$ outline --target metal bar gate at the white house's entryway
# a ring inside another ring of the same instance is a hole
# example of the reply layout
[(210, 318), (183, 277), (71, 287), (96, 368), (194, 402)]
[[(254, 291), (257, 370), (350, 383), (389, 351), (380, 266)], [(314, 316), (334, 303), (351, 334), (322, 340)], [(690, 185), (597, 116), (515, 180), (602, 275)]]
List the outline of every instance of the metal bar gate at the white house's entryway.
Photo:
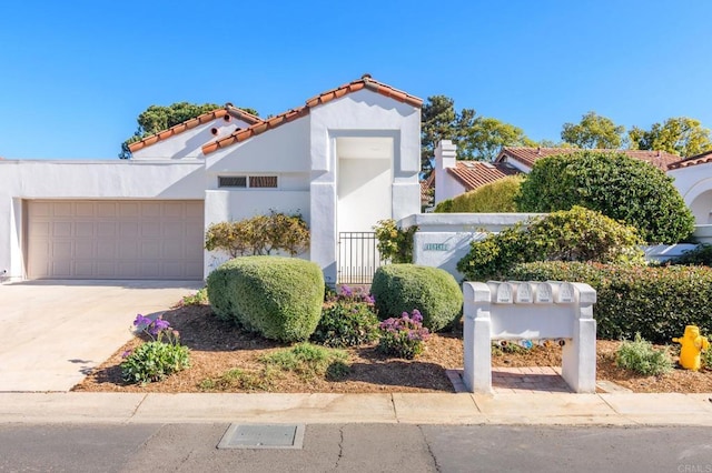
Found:
[(383, 264), (375, 232), (339, 232), (339, 284), (370, 284), (374, 273)]

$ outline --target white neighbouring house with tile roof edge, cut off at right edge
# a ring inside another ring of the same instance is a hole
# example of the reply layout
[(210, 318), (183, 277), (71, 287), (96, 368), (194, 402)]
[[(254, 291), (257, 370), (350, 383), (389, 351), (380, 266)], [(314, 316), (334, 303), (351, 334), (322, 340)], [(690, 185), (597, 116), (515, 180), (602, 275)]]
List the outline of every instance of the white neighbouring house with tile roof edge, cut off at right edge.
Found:
[(712, 151), (679, 160), (668, 169), (698, 225), (712, 224)]

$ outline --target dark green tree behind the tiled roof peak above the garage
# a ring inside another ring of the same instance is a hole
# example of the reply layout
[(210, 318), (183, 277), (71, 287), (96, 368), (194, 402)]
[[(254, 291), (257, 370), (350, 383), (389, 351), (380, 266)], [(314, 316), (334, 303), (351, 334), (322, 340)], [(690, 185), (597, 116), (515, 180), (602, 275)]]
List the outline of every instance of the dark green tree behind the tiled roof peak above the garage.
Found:
[[(175, 127), (184, 121), (194, 119), (202, 113), (221, 108), (221, 105), (217, 105), (215, 103), (196, 104), (189, 102), (176, 102), (168, 107), (150, 105), (136, 119), (138, 128), (131, 138), (121, 143), (119, 158), (129, 159), (131, 157), (131, 152), (129, 151), (129, 144), (131, 143), (140, 141), (144, 138), (156, 134), (160, 131), (168, 130), (170, 127)], [(241, 110), (254, 115), (258, 114), (254, 109), (243, 108)]]

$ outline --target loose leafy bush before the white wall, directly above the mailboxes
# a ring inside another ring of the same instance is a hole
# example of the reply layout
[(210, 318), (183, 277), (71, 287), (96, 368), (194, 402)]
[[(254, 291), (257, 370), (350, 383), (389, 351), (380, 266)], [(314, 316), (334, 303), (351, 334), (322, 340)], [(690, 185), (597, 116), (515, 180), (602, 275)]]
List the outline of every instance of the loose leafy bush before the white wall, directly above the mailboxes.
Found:
[(640, 242), (632, 227), (574, 207), (473, 241), (457, 270), (468, 281), (486, 281), (502, 279), (515, 264), (532, 261), (642, 263)]

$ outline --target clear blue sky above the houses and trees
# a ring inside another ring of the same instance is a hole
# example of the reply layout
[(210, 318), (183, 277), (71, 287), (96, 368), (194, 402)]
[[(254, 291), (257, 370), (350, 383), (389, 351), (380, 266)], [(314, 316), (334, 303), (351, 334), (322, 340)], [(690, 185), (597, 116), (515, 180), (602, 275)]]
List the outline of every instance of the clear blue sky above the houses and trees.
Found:
[(712, 128), (710, 18), (708, 0), (8, 1), (0, 157), (117, 159), (151, 104), (266, 117), (364, 72), (535, 140), (590, 110)]

